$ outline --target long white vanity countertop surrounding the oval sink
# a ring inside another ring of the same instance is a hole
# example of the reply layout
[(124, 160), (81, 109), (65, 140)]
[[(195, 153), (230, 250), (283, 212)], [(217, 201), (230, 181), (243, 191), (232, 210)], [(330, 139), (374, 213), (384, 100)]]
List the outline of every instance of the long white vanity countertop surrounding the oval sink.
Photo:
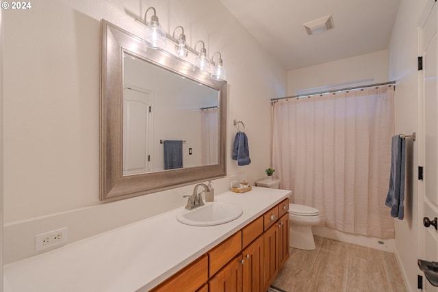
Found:
[(236, 204), (243, 214), (226, 224), (182, 224), (175, 218), (181, 207), (10, 263), (3, 269), (4, 292), (149, 291), (289, 194), (263, 187), (227, 191), (215, 201)]

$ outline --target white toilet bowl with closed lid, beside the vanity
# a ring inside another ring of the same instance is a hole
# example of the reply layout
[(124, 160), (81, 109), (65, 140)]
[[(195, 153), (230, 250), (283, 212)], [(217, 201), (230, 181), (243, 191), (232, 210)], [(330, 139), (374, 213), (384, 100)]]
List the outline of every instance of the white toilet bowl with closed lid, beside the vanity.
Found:
[(289, 204), (289, 245), (300, 250), (315, 250), (312, 226), (321, 222), (318, 209)]

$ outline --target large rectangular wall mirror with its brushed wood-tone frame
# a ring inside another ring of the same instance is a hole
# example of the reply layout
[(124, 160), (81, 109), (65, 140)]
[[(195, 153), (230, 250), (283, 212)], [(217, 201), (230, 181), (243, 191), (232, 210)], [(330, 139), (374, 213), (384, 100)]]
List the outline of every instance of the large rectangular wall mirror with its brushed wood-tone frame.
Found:
[(101, 50), (101, 200), (225, 176), (227, 82), (105, 20)]

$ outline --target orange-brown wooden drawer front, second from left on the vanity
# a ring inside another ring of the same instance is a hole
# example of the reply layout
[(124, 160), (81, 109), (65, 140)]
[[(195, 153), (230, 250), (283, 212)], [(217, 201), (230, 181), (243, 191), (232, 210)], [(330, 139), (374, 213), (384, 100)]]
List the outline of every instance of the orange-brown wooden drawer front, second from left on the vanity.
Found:
[(209, 277), (216, 274), (226, 263), (242, 250), (242, 231), (238, 231), (208, 252)]

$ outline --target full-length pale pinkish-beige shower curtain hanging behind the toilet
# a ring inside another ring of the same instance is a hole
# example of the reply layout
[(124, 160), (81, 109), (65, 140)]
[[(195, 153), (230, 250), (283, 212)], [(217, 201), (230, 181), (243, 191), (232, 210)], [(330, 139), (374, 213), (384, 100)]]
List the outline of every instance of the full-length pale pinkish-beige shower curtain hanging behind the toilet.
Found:
[(272, 165), (293, 201), (319, 209), (327, 228), (394, 238), (394, 86), (276, 101), (272, 116)]

